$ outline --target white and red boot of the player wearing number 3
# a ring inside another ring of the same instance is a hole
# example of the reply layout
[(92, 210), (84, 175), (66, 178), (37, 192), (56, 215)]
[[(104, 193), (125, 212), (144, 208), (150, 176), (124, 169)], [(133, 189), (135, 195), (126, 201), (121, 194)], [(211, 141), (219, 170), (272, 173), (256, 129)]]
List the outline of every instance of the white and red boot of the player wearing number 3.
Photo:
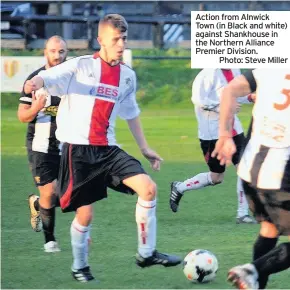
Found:
[(245, 264), (232, 268), (228, 273), (228, 281), (237, 289), (259, 289), (258, 273), (253, 264)]

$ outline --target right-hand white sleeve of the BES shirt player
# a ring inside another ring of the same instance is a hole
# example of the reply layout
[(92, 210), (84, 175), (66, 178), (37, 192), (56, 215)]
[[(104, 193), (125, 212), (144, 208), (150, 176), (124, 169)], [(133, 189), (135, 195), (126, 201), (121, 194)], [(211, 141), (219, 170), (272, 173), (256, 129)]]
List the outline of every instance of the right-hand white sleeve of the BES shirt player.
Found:
[(121, 101), (119, 117), (123, 120), (131, 120), (139, 116), (140, 109), (136, 101), (137, 80), (136, 74), (130, 79), (131, 84), (127, 90), (126, 96)]

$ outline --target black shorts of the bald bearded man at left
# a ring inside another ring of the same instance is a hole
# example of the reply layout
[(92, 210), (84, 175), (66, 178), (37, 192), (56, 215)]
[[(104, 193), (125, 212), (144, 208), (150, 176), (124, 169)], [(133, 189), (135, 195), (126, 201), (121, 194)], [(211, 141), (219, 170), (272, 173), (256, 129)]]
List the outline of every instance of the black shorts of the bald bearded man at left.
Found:
[(28, 150), (28, 161), (36, 186), (43, 186), (57, 179), (60, 155)]

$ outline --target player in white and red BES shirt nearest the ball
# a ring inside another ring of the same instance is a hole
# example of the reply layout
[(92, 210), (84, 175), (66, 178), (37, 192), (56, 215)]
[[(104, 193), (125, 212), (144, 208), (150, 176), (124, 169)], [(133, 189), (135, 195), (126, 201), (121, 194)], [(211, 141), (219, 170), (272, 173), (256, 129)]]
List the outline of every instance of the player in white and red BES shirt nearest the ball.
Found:
[(62, 97), (57, 115), (57, 138), (62, 147), (57, 192), (64, 212), (76, 211), (71, 224), (72, 275), (80, 282), (93, 280), (88, 264), (88, 237), (93, 203), (107, 197), (107, 188), (138, 194), (136, 223), (140, 267), (180, 264), (176, 256), (156, 247), (156, 184), (140, 162), (117, 146), (117, 115), (128, 126), (154, 170), (161, 157), (151, 150), (139, 120), (135, 72), (120, 61), (127, 41), (128, 24), (118, 14), (99, 22), (99, 53), (77, 57), (42, 71), (25, 84), (25, 92), (45, 87)]

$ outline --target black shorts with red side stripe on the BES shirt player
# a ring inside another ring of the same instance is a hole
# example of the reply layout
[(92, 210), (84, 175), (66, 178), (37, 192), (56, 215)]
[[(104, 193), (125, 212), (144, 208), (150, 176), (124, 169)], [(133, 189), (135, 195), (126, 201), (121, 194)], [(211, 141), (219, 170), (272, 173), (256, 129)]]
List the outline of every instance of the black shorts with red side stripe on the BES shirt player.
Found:
[(134, 194), (122, 181), (138, 174), (146, 174), (141, 163), (118, 146), (65, 143), (57, 183), (62, 211), (75, 211), (106, 198), (107, 187)]

